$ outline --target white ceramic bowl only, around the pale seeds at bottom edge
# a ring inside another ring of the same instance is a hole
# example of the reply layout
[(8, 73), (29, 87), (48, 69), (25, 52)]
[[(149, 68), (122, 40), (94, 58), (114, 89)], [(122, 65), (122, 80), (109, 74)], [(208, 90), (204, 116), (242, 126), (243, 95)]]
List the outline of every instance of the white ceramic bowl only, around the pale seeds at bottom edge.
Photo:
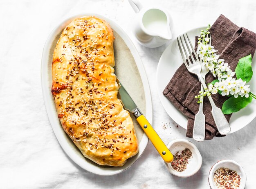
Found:
[(213, 181), (213, 176), (214, 176), (215, 171), (221, 167), (236, 171), (238, 173), (238, 175), (240, 175), (240, 178), (241, 178), (239, 189), (245, 188), (246, 174), (245, 174), (243, 167), (238, 162), (236, 162), (234, 160), (220, 160), (216, 164), (214, 164), (213, 167), (211, 167), (211, 170), (209, 173), (208, 181), (209, 181), (209, 185), (210, 185), (211, 189), (218, 189)]

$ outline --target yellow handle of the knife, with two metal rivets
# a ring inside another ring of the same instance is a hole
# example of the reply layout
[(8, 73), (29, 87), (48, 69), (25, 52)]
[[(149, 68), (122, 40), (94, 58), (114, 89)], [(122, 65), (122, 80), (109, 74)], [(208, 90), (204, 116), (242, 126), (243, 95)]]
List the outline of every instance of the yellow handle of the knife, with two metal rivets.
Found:
[(155, 149), (157, 149), (158, 153), (162, 156), (163, 160), (166, 163), (170, 163), (173, 160), (173, 154), (166, 147), (164, 142), (158, 136), (157, 132), (153, 129), (153, 127), (150, 125), (150, 123), (145, 118), (145, 116), (144, 115), (139, 116), (137, 118), (137, 122), (139, 123), (143, 131), (146, 133), (149, 140), (155, 146)]

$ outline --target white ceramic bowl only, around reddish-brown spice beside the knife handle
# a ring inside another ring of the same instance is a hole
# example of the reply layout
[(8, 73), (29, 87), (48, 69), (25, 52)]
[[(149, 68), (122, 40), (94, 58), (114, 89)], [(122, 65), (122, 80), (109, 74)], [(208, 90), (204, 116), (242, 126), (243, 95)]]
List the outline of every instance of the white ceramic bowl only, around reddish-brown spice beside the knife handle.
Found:
[(202, 165), (202, 156), (199, 150), (197, 149), (197, 147), (192, 142), (184, 139), (176, 139), (170, 142), (167, 147), (168, 149), (170, 149), (173, 156), (177, 153), (177, 151), (182, 151), (185, 148), (190, 149), (190, 151), (192, 152), (192, 156), (189, 159), (189, 163), (187, 164), (186, 169), (182, 172), (178, 172), (174, 170), (173, 167), (171, 166), (171, 163), (165, 163), (168, 171), (171, 174), (178, 177), (185, 178), (185, 177), (192, 176), (198, 172), (198, 170)]

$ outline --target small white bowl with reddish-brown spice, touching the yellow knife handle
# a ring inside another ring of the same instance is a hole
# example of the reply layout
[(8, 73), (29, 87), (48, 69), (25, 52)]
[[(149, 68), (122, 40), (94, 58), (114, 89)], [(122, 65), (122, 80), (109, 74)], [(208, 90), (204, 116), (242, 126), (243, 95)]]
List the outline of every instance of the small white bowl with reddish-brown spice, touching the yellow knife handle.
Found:
[(167, 146), (173, 154), (173, 161), (165, 163), (168, 171), (178, 177), (189, 177), (198, 172), (202, 156), (197, 147), (189, 140), (176, 139)]

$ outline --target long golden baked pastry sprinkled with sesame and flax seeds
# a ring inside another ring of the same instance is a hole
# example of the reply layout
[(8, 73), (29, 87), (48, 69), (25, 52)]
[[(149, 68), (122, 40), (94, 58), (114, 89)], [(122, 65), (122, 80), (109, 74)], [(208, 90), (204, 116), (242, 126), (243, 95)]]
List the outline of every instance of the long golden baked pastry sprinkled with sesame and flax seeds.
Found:
[(52, 95), (63, 129), (86, 158), (123, 166), (138, 152), (128, 111), (117, 98), (110, 25), (94, 16), (74, 19), (54, 49)]

